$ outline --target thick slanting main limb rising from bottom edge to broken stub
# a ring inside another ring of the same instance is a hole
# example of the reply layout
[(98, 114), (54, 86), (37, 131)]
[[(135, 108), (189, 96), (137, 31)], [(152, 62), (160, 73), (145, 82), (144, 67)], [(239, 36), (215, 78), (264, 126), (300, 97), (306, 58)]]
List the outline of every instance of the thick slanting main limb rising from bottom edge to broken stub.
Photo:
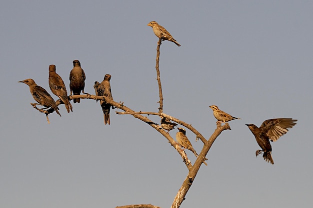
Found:
[[(205, 142), (199, 157), (204, 157), (207, 154), (207, 152), (211, 148), (213, 142), (215, 141), (215, 139), (218, 137), (218, 135), (222, 131), (230, 130), (228, 123), (225, 123), (225, 125), (223, 125), (223, 126), (221, 126), (220, 124), (217, 124), (216, 126), (217, 126), (217, 128), (215, 129), (215, 131), (213, 132), (211, 137), (208, 139), (208, 141)], [(195, 161), (195, 163), (192, 166), (191, 170), (189, 171), (187, 177), (183, 181), (180, 189), (178, 190), (178, 193), (174, 198), (174, 201), (171, 205), (171, 208), (179, 208), (180, 207), (182, 201), (185, 199), (184, 197), (186, 196), (188, 190), (190, 189), (190, 187), (192, 185), (192, 182), (193, 182), (196, 174), (198, 173), (198, 170), (201, 166), (201, 163), (202, 163), (202, 160), (200, 160), (200, 159), (197, 159)]]

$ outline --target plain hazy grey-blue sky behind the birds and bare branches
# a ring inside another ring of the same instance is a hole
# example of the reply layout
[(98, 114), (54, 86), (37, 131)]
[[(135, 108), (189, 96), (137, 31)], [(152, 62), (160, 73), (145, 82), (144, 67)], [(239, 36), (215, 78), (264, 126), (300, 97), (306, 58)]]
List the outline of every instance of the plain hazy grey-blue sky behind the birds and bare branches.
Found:
[[(104, 126), (93, 100), (73, 104), (72, 113), (60, 105), (62, 117), (53, 113), (47, 124), (17, 83), (32, 78), (50, 93), (55, 64), (69, 93), (78, 59), (85, 92), (94, 94), (94, 81), (108, 73), (115, 101), (156, 112), (157, 37), (146, 26), (155, 20), (181, 44), (160, 49), (164, 113), (207, 139), (216, 127), (209, 105), (242, 118), (217, 138), (181, 208), (310, 208), (312, 10), (301, 0), (2, 1), (0, 207), (170, 207), (187, 169), (160, 134), (115, 110)], [(298, 122), (272, 143), (270, 165), (255, 158), (259, 147), (244, 124), (280, 117)], [(200, 152), (202, 143), (186, 135)]]

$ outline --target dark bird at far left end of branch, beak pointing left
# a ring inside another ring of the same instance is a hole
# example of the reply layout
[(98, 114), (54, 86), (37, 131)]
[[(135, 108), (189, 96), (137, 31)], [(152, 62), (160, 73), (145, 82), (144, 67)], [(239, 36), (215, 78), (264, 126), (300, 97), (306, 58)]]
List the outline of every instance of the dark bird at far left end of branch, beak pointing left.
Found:
[(42, 105), (46, 108), (52, 108), (54, 111), (61, 116), (61, 114), (58, 112), (58, 107), (51, 97), (51, 95), (42, 87), (38, 86), (33, 79), (25, 79), (22, 81), (18, 81), (21, 83), (25, 83), (29, 86), (29, 91), (33, 97), (33, 99), (38, 102), (39, 105)]

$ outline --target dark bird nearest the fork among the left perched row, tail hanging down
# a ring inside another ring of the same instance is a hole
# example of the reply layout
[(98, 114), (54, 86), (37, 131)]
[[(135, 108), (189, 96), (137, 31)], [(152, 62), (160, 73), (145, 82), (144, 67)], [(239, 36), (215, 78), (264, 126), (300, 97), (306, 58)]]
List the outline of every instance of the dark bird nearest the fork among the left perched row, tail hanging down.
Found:
[[(110, 79), (111, 75), (105, 74), (103, 81), (98, 84), (97, 81), (94, 82), (93, 87), (96, 89), (95, 95), (97, 96), (106, 96), (109, 99), (113, 100), (112, 94), (111, 94), (111, 86), (110, 86)], [(110, 107), (111, 105), (106, 103), (103, 100), (100, 100), (100, 105), (103, 111), (104, 116), (104, 124), (110, 124)]]

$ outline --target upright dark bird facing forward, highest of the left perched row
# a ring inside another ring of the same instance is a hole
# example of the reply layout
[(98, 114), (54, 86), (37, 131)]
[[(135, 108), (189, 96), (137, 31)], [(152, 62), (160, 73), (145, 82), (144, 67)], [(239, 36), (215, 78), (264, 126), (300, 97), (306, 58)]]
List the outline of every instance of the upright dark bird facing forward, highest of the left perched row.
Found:
[[(85, 94), (83, 91), (85, 87), (85, 73), (80, 67), (80, 62), (78, 60), (73, 60), (73, 69), (69, 73), (69, 89), (70, 95), (73, 93), (74, 95), (80, 95), (80, 91)], [(73, 99), (74, 103), (79, 103), (80, 99)]]

